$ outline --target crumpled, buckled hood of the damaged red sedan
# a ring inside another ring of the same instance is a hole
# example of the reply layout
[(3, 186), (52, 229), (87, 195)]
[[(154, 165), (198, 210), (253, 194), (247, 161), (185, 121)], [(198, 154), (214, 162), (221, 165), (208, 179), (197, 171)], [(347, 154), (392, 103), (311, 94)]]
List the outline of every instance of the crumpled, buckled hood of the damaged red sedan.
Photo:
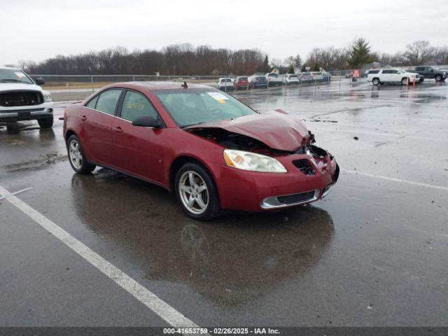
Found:
[(283, 113), (262, 113), (233, 120), (221, 120), (186, 127), (185, 130), (221, 128), (243, 134), (279, 151), (295, 152), (311, 137), (307, 127), (294, 116)]

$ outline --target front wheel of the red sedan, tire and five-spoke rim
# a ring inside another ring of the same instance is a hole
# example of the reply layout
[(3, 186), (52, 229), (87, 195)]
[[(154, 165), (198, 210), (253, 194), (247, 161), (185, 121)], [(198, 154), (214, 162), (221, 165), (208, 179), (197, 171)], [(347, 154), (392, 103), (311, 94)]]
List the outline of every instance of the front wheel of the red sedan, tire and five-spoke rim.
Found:
[(195, 162), (179, 169), (174, 181), (176, 199), (183, 211), (197, 221), (209, 221), (221, 213), (218, 190), (207, 169)]

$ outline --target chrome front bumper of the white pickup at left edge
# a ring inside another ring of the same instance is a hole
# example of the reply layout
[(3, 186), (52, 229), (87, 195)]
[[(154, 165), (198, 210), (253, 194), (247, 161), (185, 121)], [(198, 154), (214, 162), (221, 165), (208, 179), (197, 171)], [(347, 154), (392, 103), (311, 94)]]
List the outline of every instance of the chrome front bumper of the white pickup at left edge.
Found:
[(45, 119), (52, 116), (52, 113), (52, 102), (35, 106), (11, 107), (9, 109), (0, 109), (0, 122)]

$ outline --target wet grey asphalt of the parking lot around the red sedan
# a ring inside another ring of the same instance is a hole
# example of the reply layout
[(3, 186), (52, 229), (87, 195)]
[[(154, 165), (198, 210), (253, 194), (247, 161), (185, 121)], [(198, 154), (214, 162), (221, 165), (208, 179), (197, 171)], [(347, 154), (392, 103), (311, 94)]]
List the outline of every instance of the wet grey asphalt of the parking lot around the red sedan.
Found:
[[(448, 83), (235, 96), (304, 120), (342, 169), (325, 200), (193, 221), (158, 186), (73, 174), (60, 120), (0, 127), (0, 186), (197, 325), (447, 326)], [(0, 307), (8, 326), (167, 325), (7, 200)]]

